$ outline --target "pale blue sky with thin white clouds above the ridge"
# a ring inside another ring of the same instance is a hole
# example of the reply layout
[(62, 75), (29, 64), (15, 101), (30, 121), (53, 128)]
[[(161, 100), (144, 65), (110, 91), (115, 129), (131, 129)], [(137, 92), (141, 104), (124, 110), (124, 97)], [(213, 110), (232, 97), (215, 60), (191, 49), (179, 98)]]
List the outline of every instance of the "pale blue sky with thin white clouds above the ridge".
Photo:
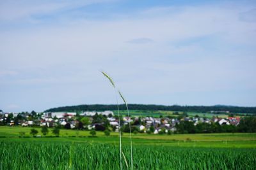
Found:
[[(0, 1), (0, 110), (256, 106), (255, 1)], [(122, 103), (120, 99), (119, 103)]]

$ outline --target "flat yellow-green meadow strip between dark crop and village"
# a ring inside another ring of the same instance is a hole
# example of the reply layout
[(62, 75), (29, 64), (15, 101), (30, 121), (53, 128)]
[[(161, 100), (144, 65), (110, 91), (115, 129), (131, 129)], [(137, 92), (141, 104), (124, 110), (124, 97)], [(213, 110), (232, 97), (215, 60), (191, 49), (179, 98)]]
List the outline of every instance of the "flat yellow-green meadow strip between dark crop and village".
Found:
[[(103, 132), (97, 132), (97, 138), (90, 138), (89, 131), (76, 131), (61, 129), (60, 137), (54, 138), (49, 129), (49, 134), (45, 138), (39, 131), (42, 138), (31, 138), (29, 134), (31, 127), (0, 127), (0, 141), (74, 141), (81, 143), (111, 143), (118, 145), (118, 133), (111, 132), (106, 137)], [(19, 132), (26, 132), (25, 137), (19, 138)], [(2, 138), (1, 138), (2, 137)], [(3, 138), (4, 137), (4, 138)], [(234, 134), (132, 134), (134, 145), (164, 145), (179, 147), (215, 147), (215, 148), (256, 148), (256, 134), (234, 133)], [(129, 134), (122, 136), (124, 144), (129, 144)]]

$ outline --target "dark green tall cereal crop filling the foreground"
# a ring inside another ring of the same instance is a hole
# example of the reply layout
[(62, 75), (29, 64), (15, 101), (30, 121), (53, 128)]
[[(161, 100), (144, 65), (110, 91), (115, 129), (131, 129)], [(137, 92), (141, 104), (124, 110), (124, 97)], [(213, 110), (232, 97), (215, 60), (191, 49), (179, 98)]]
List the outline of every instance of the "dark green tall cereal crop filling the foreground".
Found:
[[(120, 169), (116, 145), (0, 142), (0, 169)], [(122, 168), (131, 169), (129, 146)], [(123, 157), (124, 158), (124, 157)], [(134, 146), (134, 169), (255, 169), (255, 148)]]

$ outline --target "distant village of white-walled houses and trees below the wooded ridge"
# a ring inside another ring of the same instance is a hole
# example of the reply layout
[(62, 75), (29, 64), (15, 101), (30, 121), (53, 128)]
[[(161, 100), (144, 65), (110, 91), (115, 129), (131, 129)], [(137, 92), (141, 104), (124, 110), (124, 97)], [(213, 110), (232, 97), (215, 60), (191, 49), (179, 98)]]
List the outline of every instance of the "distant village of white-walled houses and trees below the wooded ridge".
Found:
[[(120, 124), (124, 132), (129, 132), (125, 127), (130, 123), (132, 126), (131, 131), (134, 133), (195, 133), (199, 128), (201, 128), (201, 132), (218, 132), (218, 127), (220, 129), (223, 126), (236, 128), (240, 123), (240, 119), (240, 117), (203, 118), (197, 115), (195, 117), (186, 117), (184, 115), (183, 117), (159, 118), (132, 116), (121, 117)], [(35, 111), (31, 113), (0, 112), (0, 125), (20, 125), (22, 127), (58, 126), (65, 129), (95, 129), (96, 131), (111, 129), (118, 132), (120, 124), (118, 115), (114, 115), (113, 111), (84, 111), (81, 114), (75, 112), (36, 113)], [(194, 127), (196, 128), (193, 130)]]

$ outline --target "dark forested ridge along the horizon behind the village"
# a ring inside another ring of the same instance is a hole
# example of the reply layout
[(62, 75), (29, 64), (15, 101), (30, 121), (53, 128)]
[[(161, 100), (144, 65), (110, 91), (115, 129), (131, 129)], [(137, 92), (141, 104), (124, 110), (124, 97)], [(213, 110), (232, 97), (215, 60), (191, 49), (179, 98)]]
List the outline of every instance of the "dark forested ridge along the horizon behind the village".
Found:
[[(105, 110), (116, 110), (116, 104), (81, 104), (77, 106), (61, 106), (58, 108), (51, 108), (45, 110), (45, 112), (79, 112), (79, 111), (105, 111)], [(125, 104), (119, 104), (120, 110), (126, 110)], [(164, 106), (156, 104), (129, 104), (129, 110), (150, 110), (150, 111), (193, 111), (200, 113), (207, 113), (210, 111), (229, 111), (230, 113), (256, 113), (256, 107), (240, 107), (240, 106)]]

